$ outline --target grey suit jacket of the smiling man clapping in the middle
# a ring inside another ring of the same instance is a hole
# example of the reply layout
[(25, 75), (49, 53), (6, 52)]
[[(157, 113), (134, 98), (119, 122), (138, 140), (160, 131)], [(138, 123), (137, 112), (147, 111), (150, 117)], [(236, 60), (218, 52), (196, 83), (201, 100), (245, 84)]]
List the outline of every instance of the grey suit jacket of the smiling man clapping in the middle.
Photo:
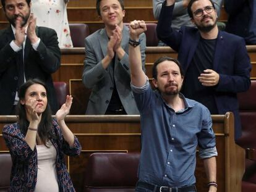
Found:
[[(142, 54), (142, 68), (145, 71), (145, 48), (146, 36), (140, 35), (140, 51)], [(85, 61), (82, 80), (83, 84), (92, 89), (88, 101), (86, 114), (103, 115), (108, 108), (109, 101), (113, 93), (114, 83), (121, 99), (122, 106), (127, 114), (139, 114), (134, 101), (134, 96), (130, 89), (130, 70), (129, 70), (129, 28), (124, 25), (122, 30), (121, 46), (126, 52), (119, 61), (116, 56), (107, 69), (104, 69), (101, 60), (107, 54), (108, 35), (106, 30), (100, 29), (92, 35), (85, 38)], [(113, 70), (114, 67), (114, 70)]]

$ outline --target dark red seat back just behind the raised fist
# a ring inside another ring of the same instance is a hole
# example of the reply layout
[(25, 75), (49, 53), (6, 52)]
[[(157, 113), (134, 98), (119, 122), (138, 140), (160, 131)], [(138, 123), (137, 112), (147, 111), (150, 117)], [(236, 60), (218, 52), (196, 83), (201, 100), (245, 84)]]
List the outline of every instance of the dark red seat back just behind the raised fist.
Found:
[[(130, 23), (124, 23), (127, 27), (129, 27)], [(156, 23), (146, 23), (147, 31), (145, 31), (145, 35), (147, 38), (146, 46), (158, 46), (158, 38), (156, 35)]]

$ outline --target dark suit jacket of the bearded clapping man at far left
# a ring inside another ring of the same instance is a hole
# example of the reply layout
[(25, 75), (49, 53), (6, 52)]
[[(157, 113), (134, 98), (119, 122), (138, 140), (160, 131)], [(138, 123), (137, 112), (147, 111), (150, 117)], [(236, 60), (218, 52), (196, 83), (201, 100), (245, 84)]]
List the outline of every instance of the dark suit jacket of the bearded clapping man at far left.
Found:
[[(36, 27), (36, 35), (40, 38), (38, 50), (32, 48), (30, 40), (25, 43), (24, 70), (26, 80), (40, 78), (48, 88), (48, 102), (53, 113), (58, 109), (58, 102), (53, 86), (51, 73), (60, 66), (61, 51), (58, 46), (56, 32), (46, 27)], [(0, 30), (0, 115), (9, 115), (14, 104), (15, 92), (19, 78), (19, 54), (10, 43), (15, 40), (11, 26)]]

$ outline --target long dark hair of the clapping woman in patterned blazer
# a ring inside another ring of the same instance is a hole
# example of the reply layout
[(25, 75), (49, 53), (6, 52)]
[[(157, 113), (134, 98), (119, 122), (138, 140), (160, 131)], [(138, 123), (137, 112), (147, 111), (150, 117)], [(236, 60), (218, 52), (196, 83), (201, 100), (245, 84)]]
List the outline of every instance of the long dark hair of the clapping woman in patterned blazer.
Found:
[[(19, 89), (20, 100), (25, 99), (25, 94), (26, 94), (27, 89), (34, 84), (40, 84), (40, 85), (44, 86), (45, 90), (46, 90), (46, 96), (47, 96), (48, 91), (47, 91), (47, 87), (46, 87), (45, 83), (43, 83), (43, 81), (41, 81), (37, 78), (34, 78), (34, 79), (30, 79), (30, 80), (26, 81), (25, 83), (23, 83), (22, 86), (20, 86), (20, 89)], [(20, 130), (25, 135), (28, 130), (29, 122), (27, 120), (25, 106), (22, 105), (20, 102), (18, 102), (18, 104), (17, 104), (17, 114), (19, 114), (18, 121), (20, 124)], [(51, 128), (52, 123), (53, 123), (53, 119), (51, 117), (51, 107), (49, 106), (49, 102), (48, 102), (46, 109), (42, 114), (41, 121), (38, 125), (38, 135), (40, 136), (40, 139), (41, 139), (41, 141), (43, 141), (43, 144), (45, 144), (45, 146), (46, 146), (46, 142), (50, 138), (55, 137), (52, 133), (52, 128)]]

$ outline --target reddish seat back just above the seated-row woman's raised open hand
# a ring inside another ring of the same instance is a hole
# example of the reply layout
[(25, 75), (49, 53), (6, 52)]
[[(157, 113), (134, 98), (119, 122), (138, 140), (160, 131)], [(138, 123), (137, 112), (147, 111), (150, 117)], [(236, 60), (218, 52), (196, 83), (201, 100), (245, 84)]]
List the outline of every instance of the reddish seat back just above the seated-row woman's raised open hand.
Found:
[(53, 82), (59, 108), (66, 102), (66, 96), (69, 94), (67, 83), (64, 81), (54, 81)]

